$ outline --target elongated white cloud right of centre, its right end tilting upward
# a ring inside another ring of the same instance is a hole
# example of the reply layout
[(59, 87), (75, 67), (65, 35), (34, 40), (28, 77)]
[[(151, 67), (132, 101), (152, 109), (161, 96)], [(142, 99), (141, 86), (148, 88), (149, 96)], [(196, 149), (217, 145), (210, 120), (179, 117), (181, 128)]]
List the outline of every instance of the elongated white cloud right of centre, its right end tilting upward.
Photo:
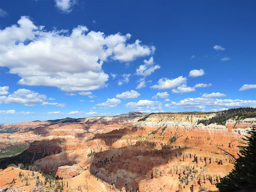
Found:
[(150, 86), (152, 89), (171, 89), (176, 86), (179, 86), (180, 84), (186, 83), (187, 78), (183, 76), (179, 76), (176, 79), (168, 79), (168, 78), (162, 78), (158, 80), (158, 84), (155, 84), (153, 86)]

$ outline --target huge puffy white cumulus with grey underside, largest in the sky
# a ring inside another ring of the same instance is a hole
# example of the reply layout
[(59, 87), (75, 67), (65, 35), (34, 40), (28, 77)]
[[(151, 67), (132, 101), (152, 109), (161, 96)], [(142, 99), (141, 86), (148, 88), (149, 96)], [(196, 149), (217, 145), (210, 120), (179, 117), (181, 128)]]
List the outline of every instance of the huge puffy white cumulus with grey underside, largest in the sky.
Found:
[(104, 61), (131, 61), (155, 50), (138, 40), (127, 43), (130, 34), (107, 36), (82, 25), (71, 33), (47, 31), (27, 16), (0, 30), (0, 36), (1, 66), (18, 74), (19, 84), (54, 86), (65, 92), (105, 87), (109, 75), (102, 70)]

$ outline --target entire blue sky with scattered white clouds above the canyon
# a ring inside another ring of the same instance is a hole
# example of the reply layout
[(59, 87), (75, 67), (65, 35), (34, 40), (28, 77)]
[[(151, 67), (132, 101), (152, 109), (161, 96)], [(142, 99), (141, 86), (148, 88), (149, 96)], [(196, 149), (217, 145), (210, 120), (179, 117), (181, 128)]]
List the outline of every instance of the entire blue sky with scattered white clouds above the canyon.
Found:
[(255, 0), (1, 0), (0, 123), (256, 107)]

